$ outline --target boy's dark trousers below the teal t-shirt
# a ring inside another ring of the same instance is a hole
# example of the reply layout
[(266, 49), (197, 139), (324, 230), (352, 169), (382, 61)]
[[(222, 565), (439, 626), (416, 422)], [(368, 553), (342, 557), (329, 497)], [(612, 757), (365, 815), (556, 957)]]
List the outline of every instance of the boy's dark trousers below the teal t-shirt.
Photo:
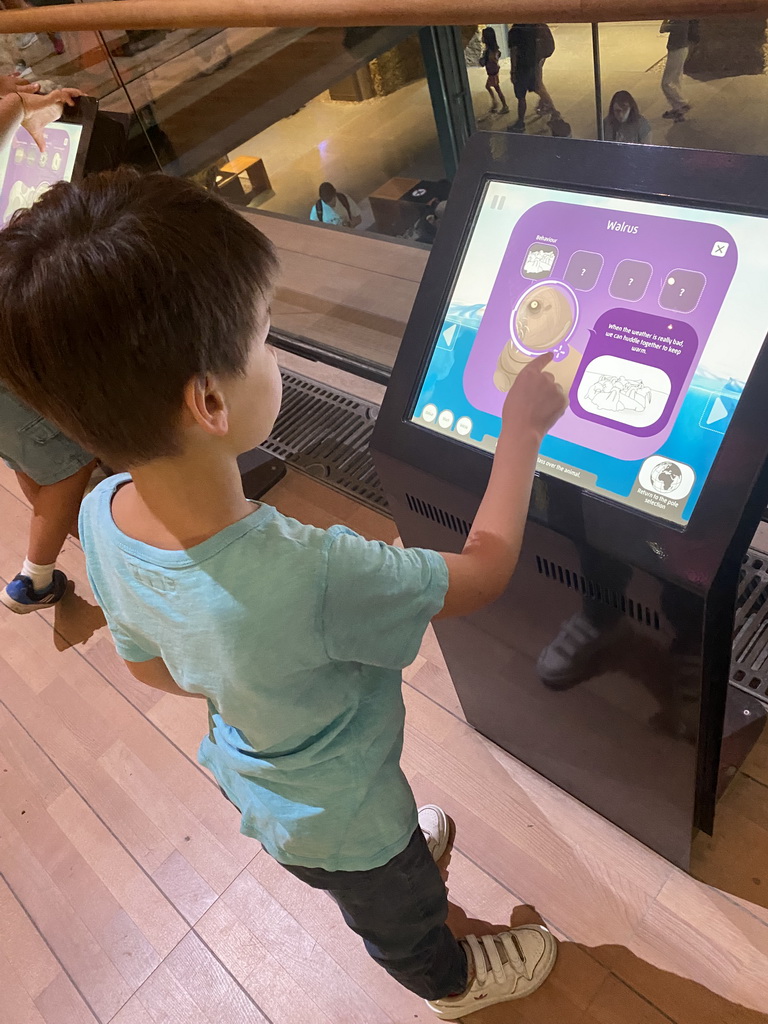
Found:
[(425, 999), (466, 989), (467, 957), (445, 924), (445, 885), (421, 829), (402, 853), (370, 871), (287, 869), (329, 892), (371, 956), (406, 988)]

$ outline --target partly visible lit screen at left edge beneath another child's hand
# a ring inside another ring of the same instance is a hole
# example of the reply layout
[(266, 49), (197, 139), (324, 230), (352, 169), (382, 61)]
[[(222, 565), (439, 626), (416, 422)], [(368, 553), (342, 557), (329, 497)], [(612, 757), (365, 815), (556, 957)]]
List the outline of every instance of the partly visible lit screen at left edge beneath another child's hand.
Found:
[(72, 179), (83, 126), (56, 121), (45, 129), (41, 153), (26, 128), (0, 148), (0, 227), (55, 181)]

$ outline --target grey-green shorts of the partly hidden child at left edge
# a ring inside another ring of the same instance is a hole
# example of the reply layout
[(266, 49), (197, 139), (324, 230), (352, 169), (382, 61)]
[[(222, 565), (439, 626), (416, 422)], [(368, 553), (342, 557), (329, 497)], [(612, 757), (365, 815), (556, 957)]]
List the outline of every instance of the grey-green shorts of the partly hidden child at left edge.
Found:
[(93, 462), (93, 456), (0, 384), (0, 458), (35, 483), (58, 483)]

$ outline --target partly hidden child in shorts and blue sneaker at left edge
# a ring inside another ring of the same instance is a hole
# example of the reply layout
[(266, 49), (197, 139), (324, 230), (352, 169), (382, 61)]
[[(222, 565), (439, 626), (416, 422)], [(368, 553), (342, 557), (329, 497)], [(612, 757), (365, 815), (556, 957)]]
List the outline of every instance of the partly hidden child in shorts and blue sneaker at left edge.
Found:
[[(77, 89), (38, 94), (38, 86), (17, 75), (0, 76), (0, 147), (22, 125), (45, 150), (43, 130), (61, 116), (65, 103), (81, 95)], [(92, 455), (71, 441), (0, 383), (0, 458), (12, 469), (32, 505), (27, 557), (17, 574), (0, 591), (0, 604), (25, 614), (57, 604), (67, 592), (67, 577), (56, 560), (70, 532), (95, 467)]]

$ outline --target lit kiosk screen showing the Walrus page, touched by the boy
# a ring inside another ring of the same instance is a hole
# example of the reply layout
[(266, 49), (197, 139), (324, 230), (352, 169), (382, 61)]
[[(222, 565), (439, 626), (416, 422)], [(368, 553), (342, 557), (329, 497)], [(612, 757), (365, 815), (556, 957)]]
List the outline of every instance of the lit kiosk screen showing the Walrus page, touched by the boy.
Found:
[(684, 524), (768, 330), (765, 221), (489, 181), (412, 412), (493, 452), (535, 355), (569, 408), (543, 473)]

